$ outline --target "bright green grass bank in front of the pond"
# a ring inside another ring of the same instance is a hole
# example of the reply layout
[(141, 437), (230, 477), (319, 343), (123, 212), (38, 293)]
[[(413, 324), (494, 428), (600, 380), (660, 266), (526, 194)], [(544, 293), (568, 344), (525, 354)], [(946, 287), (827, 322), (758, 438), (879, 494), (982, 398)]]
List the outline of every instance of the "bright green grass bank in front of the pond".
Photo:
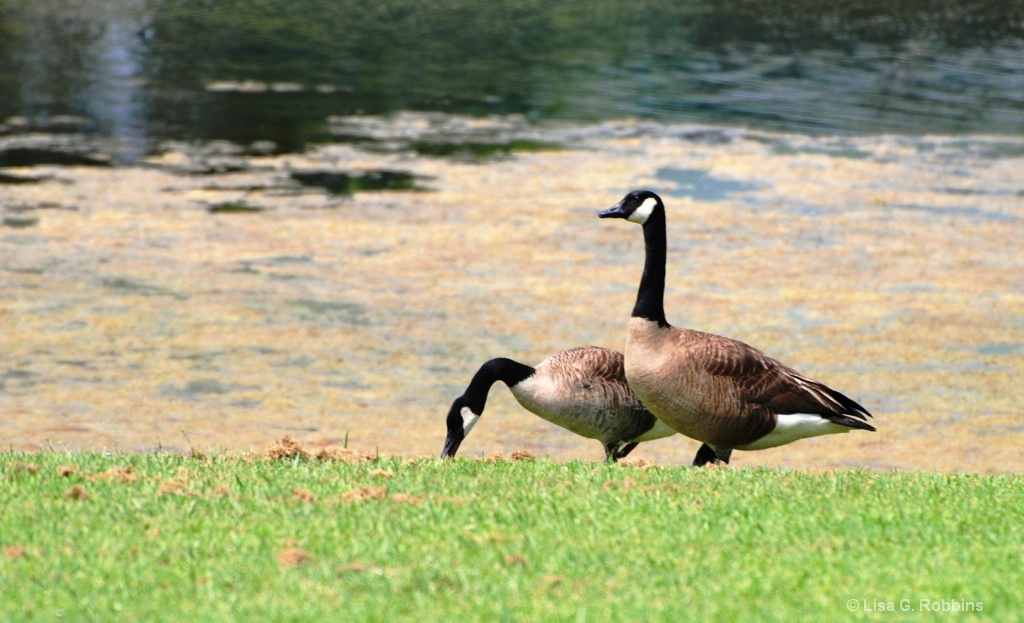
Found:
[(1019, 475), (13, 452), (0, 470), (0, 620), (893, 616), (850, 599), (1024, 618)]

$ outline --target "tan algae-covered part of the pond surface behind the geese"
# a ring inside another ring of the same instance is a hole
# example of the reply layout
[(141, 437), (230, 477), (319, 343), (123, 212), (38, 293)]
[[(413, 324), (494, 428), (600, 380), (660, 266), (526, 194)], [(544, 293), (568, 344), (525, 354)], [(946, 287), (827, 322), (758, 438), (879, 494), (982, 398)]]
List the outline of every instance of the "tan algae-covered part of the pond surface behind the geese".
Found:
[[(408, 143), (517, 126), (349, 121)], [(878, 433), (737, 466), (1024, 470), (1024, 138), (654, 122), (555, 134), (578, 147), (465, 161), (340, 142), (16, 169), (36, 181), (0, 184), (0, 434), (19, 449), (187, 451), (288, 433), (435, 456), (484, 361), (623, 347), (642, 237), (596, 213), (654, 188), (670, 320), (763, 348), (877, 418)], [(365, 179), (402, 183), (350, 190)], [(634, 456), (682, 464), (695, 446)], [(603, 456), (498, 384), (463, 453), (517, 449)]]

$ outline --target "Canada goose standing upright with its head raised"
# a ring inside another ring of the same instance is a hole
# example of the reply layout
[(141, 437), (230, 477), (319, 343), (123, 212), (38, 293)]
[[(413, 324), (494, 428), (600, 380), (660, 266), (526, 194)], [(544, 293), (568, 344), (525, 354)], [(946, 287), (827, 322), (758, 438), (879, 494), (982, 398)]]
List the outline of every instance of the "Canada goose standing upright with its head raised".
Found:
[[(643, 225), (646, 260), (626, 338), (626, 378), (644, 406), (728, 463), (733, 450), (874, 430), (866, 409), (743, 342), (665, 319), (665, 204), (634, 191), (601, 218)], [(717, 461), (716, 461), (717, 462)]]

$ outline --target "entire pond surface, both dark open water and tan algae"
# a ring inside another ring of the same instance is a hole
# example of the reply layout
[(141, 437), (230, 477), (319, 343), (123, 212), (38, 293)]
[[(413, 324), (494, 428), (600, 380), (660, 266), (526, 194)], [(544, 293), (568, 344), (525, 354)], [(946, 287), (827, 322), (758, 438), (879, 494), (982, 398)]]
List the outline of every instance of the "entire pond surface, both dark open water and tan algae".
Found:
[[(493, 357), (670, 320), (877, 434), (740, 465), (1024, 470), (1024, 3), (0, 3), (0, 439), (436, 455)], [(500, 385), (463, 453), (602, 454)], [(695, 443), (635, 456), (680, 464)]]

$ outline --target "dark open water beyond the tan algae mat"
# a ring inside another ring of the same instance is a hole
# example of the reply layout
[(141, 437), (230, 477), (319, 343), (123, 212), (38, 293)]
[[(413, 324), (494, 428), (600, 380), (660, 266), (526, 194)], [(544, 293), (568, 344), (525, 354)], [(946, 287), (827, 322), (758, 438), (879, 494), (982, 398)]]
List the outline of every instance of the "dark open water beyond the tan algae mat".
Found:
[(1019, 0), (13, 0), (0, 133), (95, 132), (129, 160), (168, 138), (298, 151), (332, 138), (332, 115), (401, 110), (1022, 134), (1022, 14)]

